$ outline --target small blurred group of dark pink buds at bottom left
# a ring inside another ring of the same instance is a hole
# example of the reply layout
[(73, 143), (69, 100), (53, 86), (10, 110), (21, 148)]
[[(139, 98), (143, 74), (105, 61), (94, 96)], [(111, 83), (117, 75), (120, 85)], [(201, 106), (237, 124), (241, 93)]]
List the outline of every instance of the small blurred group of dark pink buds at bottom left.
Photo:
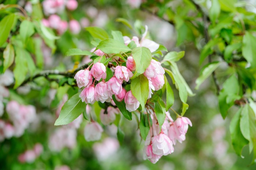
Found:
[(20, 154), (18, 157), (19, 162), (21, 163), (32, 163), (37, 157), (41, 155), (43, 151), (43, 146), (41, 143), (35, 144), (34, 148), (31, 150), (26, 150), (24, 153)]

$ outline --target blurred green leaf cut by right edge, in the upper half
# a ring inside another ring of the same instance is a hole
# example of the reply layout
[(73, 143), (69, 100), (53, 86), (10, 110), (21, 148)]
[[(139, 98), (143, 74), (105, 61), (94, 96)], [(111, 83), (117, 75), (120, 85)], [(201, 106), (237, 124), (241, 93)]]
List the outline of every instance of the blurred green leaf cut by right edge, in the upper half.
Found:
[(251, 63), (251, 67), (256, 67), (256, 38), (249, 32), (243, 38), (242, 54)]

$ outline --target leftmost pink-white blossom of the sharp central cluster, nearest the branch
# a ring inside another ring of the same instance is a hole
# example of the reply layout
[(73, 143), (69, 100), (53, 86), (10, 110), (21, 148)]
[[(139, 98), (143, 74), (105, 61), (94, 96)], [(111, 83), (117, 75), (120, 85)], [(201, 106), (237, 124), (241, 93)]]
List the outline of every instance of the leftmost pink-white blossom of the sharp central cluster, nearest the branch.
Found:
[(89, 70), (79, 70), (75, 74), (75, 80), (77, 81), (77, 86), (79, 88), (86, 87), (92, 84), (92, 74)]

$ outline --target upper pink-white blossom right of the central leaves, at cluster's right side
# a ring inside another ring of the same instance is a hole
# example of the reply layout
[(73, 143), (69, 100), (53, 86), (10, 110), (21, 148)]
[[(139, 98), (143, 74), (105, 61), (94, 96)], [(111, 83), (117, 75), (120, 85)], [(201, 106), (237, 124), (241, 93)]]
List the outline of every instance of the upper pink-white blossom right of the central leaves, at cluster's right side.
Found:
[(151, 78), (151, 77), (155, 78), (157, 75), (164, 74), (164, 73), (165, 72), (163, 67), (161, 66), (161, 63), (152, 59), (150, 65), (145, 70), (144, 75), (147, 78)]

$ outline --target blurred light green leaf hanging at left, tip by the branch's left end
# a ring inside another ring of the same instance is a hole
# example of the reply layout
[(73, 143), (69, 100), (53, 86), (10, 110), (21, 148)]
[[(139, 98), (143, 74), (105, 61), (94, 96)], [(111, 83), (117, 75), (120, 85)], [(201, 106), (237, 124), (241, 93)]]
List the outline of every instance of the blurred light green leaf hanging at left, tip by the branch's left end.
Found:
[(26, 62), (26, 58), (24, 57), (24, 49), (20, 48), (20, 47), (15, 47), (15, 67), (14, 67), (14, 78), (15, 78), (15, 85), (14, 85), (14, 89), (18, 88), (18, 86), (20, 86), (23, 81), (26, 78), (26, 74), (28, 72), (28, 68), (27, 68), (27, 62)]

